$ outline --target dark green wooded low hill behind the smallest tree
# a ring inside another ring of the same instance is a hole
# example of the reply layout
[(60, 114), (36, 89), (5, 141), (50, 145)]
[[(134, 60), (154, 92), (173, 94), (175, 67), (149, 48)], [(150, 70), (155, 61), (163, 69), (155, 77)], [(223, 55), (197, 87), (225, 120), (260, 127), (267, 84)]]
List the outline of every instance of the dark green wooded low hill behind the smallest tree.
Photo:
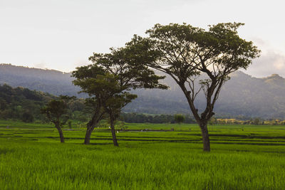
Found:
[[(28, 88), (11, 88), (9, 85), (0, 85), (0, 119), (21, 120), (24, 122), (48, 122), (41, 114), (41, 108), (47, 102), (58, 97), (48, 93), (29, 90)], [(86, 122), (88, 110), (83, 99), (70, 102), (68, 114), (72, 120)]]

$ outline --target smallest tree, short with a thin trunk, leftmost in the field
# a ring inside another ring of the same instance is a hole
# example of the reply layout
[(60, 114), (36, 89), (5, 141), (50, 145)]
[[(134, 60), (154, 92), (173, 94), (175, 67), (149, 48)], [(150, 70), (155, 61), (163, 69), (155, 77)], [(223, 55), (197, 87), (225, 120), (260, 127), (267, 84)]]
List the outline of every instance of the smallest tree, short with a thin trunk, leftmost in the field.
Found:
[(61, 127), (68, 121), (68, 101), (75, 97), (61, 96), (59, 100), (51, 100), (47, 105), (41, 108), (41, 113), (48, 117), (48, 120), (53, 122), (58, 130), (61, 142), (64, 142), (63, 132)]

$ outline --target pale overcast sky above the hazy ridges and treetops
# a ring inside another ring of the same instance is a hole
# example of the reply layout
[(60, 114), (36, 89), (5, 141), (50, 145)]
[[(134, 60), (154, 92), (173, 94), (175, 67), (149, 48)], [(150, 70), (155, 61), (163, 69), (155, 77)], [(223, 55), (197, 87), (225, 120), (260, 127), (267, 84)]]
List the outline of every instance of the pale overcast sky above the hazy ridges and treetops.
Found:
[(155, 23), (242, 22), (239, 36), (261, 49), (245, 73), (285, 77), (282, 0), (0, 0), (0, 63), (70, 72), (121, 47)]

